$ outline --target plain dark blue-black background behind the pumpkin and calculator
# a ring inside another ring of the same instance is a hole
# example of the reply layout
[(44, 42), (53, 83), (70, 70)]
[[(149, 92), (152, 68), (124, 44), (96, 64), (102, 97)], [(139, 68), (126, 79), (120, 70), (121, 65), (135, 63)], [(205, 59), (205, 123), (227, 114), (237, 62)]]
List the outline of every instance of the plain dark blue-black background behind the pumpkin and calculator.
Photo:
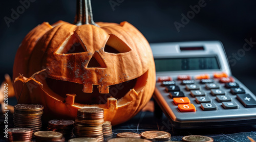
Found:
[[(25, 1), (25, 0), (22, 0)], [(28, 0), (27, 0), (28, 1)], [(11, 9), (17, 11), (19, 1), (0, 1), (0, 81), (4, 74), (12, 75), (14, 57), (19, 44), (26, 34), (38, 24), (58, 20), (73, 22), (76, 1), (34, 0), (8, 28), (4, 17), (11, 18)], [(190, 5), (199, 1), (164, 0), (123, 0), (111, 7), (110, 2), (122, 0), (92, 0), (95, 21), (129, 21), (146, 37), (148, 42), (170, 42), (190, 40), (220, 40), (224, 44), (227, 56), (243, 49), (245, 39), (256, 41), (256, 6), (253, 1), (217, 1), (205, 0), (206, 6), (178, 32), (174, 22), (181, 23), (181, 14), (190, 11)], [(256, 46), (256, 45), (255, 45)], [(256, 94), (255, 48), (245, 51), (245, 55), (236, 64), (231, 65), (232, 73)], [(231, 62), (230, 62), (231, 63)]]

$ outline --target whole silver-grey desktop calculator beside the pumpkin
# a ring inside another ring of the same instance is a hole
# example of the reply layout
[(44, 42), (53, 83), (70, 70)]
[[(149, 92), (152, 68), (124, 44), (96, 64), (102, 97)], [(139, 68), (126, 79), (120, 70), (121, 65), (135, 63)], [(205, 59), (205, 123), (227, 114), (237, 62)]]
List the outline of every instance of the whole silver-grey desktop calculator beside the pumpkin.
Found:
[(256, 124), (256, 97), (232, 76), (220, 41), (152, 43), (151, 48), (153, 97), (174, 128)]

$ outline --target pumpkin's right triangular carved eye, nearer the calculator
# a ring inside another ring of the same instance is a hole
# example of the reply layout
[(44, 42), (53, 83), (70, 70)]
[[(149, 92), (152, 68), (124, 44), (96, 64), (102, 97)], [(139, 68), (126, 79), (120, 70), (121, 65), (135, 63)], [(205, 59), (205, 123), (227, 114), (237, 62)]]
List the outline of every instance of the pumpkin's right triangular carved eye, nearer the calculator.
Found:
[(104, 47), (104, 52), (115, 53), (115, 54), (126, 53), (131, 50), (132, 49), (130, 49), (126, 43), (124, 43), (121, 39), (119, 39), (117, 36), (113, 34), (110, 35)]

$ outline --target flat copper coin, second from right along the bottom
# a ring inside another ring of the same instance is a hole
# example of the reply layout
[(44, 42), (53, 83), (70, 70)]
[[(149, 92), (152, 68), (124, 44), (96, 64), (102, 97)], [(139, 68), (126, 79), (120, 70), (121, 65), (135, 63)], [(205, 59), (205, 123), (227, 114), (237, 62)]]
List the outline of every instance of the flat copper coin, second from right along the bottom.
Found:
[(141, 137), (145, 139), (164, 141), (170, 139), (170, 133), (164, 131), (145, 131), (141, 133)]

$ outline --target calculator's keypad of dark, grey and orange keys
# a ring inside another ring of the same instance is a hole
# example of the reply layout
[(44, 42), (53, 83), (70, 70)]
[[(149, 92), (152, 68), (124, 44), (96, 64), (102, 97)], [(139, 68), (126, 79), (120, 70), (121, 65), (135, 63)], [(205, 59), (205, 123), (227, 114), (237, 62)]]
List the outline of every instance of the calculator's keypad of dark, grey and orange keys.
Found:
[(241, 106), (256, 107), (256, 100), (226, 74), (216, 74), (215, 78), (200, 80), (181, 75), (176, 80), (172, 78), (172, 81), (162, 81), (161, 86), (165, 87), (173, 105), (182, 113), (195, 112), (197, 107), (201, 111), (239, 109), (238, 101)]

